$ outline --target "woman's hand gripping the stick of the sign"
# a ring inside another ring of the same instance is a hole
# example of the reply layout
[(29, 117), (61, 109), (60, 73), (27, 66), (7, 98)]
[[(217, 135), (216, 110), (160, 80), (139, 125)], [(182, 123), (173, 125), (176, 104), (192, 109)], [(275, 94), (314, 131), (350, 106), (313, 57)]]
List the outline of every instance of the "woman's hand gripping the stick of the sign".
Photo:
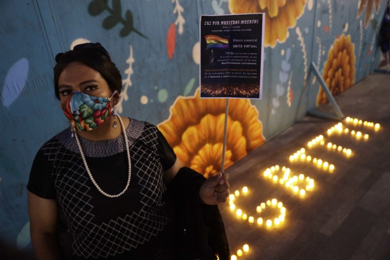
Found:
[(217, 205), (228, 200), (229, 187), (229, 174), (218, 173), (203, 183), (199, 196), (205, 204)]

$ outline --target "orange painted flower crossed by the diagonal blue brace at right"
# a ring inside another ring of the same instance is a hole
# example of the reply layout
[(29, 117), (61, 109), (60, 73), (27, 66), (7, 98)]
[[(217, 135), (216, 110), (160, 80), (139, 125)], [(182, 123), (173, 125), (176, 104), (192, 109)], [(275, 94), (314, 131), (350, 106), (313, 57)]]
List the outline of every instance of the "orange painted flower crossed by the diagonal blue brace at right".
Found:
[[(333, 43), (328, 52), (328, 60), (325, 62), (322, 78), (333, 95), (337, 95), (348, 89), (355, 81), (355, 46), (351, 43), (351, 37), (341, 35)], [(322, 88), (319, 88), (317, 105), (327, 103), (328, 99)]]

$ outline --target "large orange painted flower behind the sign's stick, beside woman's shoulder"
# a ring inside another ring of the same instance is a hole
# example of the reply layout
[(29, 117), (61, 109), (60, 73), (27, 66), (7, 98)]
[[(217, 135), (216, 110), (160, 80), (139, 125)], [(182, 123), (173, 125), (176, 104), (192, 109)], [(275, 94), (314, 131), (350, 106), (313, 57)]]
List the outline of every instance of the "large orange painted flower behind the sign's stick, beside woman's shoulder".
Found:
[[(201, 99), (199, 91), (179, 96), (158, 128), (185, 166), (209, 177), (221, 171), (225, 100)], [(257, 117), (249, 100), (229, 100), (225, 168), (265, 142)]]

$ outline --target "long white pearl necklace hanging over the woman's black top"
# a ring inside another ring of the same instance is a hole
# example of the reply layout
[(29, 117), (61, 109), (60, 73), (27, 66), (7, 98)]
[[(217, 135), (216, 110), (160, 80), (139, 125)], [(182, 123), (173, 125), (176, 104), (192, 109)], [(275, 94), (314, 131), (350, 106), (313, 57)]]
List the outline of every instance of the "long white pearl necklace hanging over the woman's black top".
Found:
[(131, 176), (132, 176), (132, 162), (131, 162), (131, 159), (130, 159), (130, 149), (128, 147), (128, 140), (127, 140), (127, 135), (126, 135), (126, 129), (124, 129), (124, 124), (123, 124), (123, 121), (122, 119), (120, 118), (120, 116), (117, 114), (116, 115), (119, 119), (119, 122), (120, 122), (120, 126), (122, 127), (122, 131), (123, 131), (123, 138), (124, 138), (124, 142), (126, 144), (126, 152), (127, 152), (127, 160), (128, 160), (128, 178), (127, 178), (127, 183), (126, 183), (126, 186), (124, 187), (124, 189), (118, 193), (118, 194), (115, 194), (115, 195), (112, 195), (112, 194), (108, 194), (106, 193), (105, 191), (103, 191), (103, 189), (98, 185), (98, 183), (96, 183), (95, 179), (93, 179), (92, 177), (92, 174), (91, 172), (89, 171), (89, 167), (87, 165), (87, 161), (85, 159), (85, 156), (84, 156), (84, 152), (83, 150), (81, 149), (81, 144), (80, 144), (80, 140), (79, 140), (79, 137), (77, 135), (77, 131), (74, 131), (74, 134), (75, 134), (75, 137), (76, 137), (76, 142), (77, 142), (77, 146), (79, 147), (79, 150), (80, 150), (80, 154), (81, 154), (81, 158), (83, 159), (83, 162), (84, 162), (84, 166), (85, 166), (85, 169), (87, 170), (87, 173), (88, 173), (88, 176), (89, 178), (91, 179), (93, 185), (95, 185), (95, 187), (100, 191), (100, 193), (102, 193), (104, 196), (108, 197), (108, 198), (117, 198), (119, 196), (121, 196), (128, 188), (129, 184), (130, 184), (130, 179), (131, 179)]

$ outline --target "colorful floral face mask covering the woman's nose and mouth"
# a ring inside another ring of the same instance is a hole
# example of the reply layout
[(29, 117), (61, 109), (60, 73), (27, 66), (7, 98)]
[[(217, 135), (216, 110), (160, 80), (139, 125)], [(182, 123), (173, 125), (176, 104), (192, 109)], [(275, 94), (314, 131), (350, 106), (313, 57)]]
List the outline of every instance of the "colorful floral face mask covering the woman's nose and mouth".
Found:
[(102, 98), (76, 91), (61, 103), (61, 108), (72, 127), (90, 131), (109, 117), (112, 110), (110, 100), (116, 92), (110, 98)]

